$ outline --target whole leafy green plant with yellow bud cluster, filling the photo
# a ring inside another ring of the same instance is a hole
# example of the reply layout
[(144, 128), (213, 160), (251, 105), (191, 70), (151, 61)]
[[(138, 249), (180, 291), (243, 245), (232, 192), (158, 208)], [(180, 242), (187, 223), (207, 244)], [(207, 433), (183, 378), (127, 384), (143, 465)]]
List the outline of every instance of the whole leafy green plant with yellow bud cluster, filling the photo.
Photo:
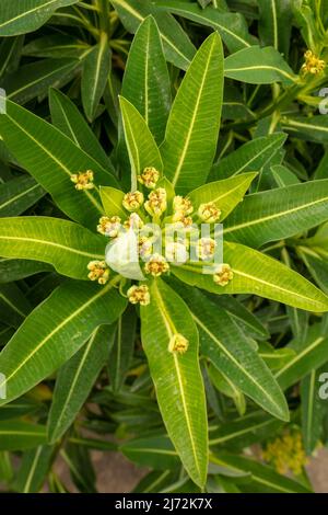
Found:
[[(300, 427), (307, 454), (326, 438), (315, 391), (328, 360), (328, 122), (314, 95), (327, 79), (321, 2), (278, 2), (277, 12), (260, 0), (238, 2), (239, 12), (229, 9), (235, 2), (115, 0), (114, 10), (106, 0), (58, 1), (56, 12), (30, 3), (37, 19), (14, 2), (0, 16), (0, 36), (13, 36), (1, 55), (52, 15), (23, 47), (50, 60), (3, 81), (0, 477), (10, 482), (8, 453), (23, 451), (11, 488), (38, 491), (48, 476), (65, 490), (49, 472), (61, 454), (78, 488), (94, 491), (86, 449), (119, 448), (154, 469), (139, 491), (309, 491), (305, 453), (296, 462), (289, 453)], [(246, 23), (255, 12), (265, 46)], [(51, 20), (74, 21), (84, 41), (73, 43), (69, 28), (61, 48)], [(129, 38), (113, 36), (126, 37), (119, 20), (136, 32), (126, 64)], [(289, 57), (293, 24), (305, 60)], [(58, 71), (55, 82), (47, 70)], [(37, 114), (19, 105), (26, 102)], [(190, 249), (163, 238), (145, 263), (152, 241), (143, 236), (139, 259), (126, 260), (133, 230), (149, 222), (163, 237), (166, 224), (188, 238), (203, 224), (209, 234)], [(223, 224), (223, 262), (204, 273), (214, 222)], [(177, 263), (175, 252), (188, 250), (200, 260)], [(243, 455), (258, 443), (278, 471)], [(294, 479), (283, 476), (279, 448)]]

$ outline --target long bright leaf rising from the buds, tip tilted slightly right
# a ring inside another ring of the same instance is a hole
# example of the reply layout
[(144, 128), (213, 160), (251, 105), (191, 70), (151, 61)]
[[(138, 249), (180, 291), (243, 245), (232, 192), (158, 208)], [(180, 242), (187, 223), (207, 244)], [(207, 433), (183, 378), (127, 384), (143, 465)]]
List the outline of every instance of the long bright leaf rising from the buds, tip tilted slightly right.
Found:
[(197, 52), (175, 98), (161, 147), (165, 175), (177, 193), (203, 184), (216, 150), (223, 95), (218, 33)]

